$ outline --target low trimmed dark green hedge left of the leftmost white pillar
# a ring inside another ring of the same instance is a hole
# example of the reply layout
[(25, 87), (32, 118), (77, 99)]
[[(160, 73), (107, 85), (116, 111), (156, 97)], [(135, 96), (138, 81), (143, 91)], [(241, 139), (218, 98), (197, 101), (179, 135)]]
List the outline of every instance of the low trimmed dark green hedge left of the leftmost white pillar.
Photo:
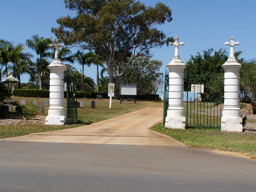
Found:
[(50, 91), (47, 89), (14, 89), (15, 97), (44, 97), (49, 98)]

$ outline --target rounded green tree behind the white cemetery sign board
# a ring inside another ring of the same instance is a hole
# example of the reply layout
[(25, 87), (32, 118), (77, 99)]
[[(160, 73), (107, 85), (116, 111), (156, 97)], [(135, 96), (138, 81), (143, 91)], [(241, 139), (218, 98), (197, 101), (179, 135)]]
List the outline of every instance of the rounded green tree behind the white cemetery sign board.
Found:
[(136, 83), (138, 93), (152, 93), (153, 81), (161, 74), (159, 73), (159, 69), (162, 65), (163, 63), (161, 61), (150, 60), (149, 57), (136, 58), (127, 67), (126, 73), (121, 77), (120, 82)]

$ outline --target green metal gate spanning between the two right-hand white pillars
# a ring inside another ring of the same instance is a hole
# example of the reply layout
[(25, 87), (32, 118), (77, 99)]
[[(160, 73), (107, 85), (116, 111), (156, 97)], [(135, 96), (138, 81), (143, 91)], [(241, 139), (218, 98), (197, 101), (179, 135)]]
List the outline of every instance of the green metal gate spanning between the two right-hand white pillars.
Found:
[[(204, 76), (204, 74), (189, 74), (187, 71), (185, 86), (186, 128), (220, 128), (224, 101), (223, 74)], [(189, 91), (192, 94), (190, 96), (188, 96)]]

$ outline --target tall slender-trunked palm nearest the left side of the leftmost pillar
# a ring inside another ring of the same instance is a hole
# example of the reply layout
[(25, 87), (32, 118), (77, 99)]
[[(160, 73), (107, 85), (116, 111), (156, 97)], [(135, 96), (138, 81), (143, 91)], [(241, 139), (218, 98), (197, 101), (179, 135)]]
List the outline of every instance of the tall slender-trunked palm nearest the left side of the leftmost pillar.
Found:
[(52, 40), (49, 38), (39, 37), (39, 35), (33, 35), (31, 39), (27, 39), (26, 46), (33, 49), (37, 55), (39, 55), (39, 60), (36, 61), (38, 66), (38, 80), (39, 80), (39, 89), (42, 89), (42, 72), (45, 64), (44, 59), (47, 57), (51, 57), (52, 53), (47, 52), (50, 49), (50, 44), (52, 44)]

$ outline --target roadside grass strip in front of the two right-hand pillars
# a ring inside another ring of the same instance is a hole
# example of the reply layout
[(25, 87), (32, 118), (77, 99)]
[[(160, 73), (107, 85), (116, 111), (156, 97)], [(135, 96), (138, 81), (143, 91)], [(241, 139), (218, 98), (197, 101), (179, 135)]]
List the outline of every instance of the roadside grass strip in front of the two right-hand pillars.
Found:
[(256, 159), (255, 133), (222, 132), (217, 128), (166, 129), (162, 123), (154, 125), (151, 130), (168, 135), (188, 146), (246, 153)]

